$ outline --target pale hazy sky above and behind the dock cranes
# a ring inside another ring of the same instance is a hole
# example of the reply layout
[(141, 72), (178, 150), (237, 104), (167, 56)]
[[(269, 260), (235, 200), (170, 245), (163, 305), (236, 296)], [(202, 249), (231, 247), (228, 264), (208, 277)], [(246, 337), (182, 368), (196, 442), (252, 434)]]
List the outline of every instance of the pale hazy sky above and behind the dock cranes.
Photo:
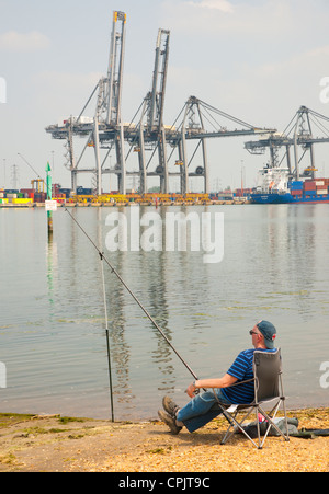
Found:
[[(63, 142), (45, 127), (79, 115), (105, 76), (114, 10), (127, 14), (125, 122), (150, 89), (159, 27), (171, 32), (166, 124), (190, 95), (280, 131), (300, 105), (329, 116), (329, 103), (320, 100), (320, 81), (329, 77), (328, 0), (0, 0), (0, 78), (7, 83), (7, 103), (0, 103), (0, 186), (3, 160), (7, 187), (13, 164), (20, 187), (34, 177), (18, 153), (41, 175), (54, 157), (56, 182), (70, 186)], [(268, 156), (249, 154), (246, 140), (208, 142), (212, 186), (216, 181), (239, 186), (241, 166), (247, 185), (254, 185)], [(329, 145), (316, 148), (320, 174), (329, 175), (328, 151)], [(90, 186), (91, 177), (79, 183)]]

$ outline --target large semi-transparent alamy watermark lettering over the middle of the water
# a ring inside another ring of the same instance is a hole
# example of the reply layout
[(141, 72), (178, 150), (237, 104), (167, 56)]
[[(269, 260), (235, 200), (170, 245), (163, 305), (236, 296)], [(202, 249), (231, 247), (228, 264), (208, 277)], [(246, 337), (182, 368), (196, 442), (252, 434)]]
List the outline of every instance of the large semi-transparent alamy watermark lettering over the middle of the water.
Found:
[(111, 252), (203, 252), (203, 263), (220, 263), (224, 257), (223, 212), (159, 212), (140, 216), (138, 206), (129, 214), (114, 211), (105, 225), (106, 249)]

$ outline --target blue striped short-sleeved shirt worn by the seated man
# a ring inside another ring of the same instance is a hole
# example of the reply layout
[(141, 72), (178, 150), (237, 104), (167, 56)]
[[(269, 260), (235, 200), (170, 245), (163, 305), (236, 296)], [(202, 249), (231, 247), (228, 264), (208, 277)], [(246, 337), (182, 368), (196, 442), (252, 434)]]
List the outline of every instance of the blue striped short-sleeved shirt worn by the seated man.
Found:
[[(227, 374), (237, 378), (237, 382), (253, 379), (253, 352), (254, 348), (241, 352), (228, 369)], [(276, 352), (276, 348), (261, 349), (261, 352)], [(232, 404), (252, 403), (254, 400), (254, 383), (251, 381), (232, 388), (224, 388), (222, 393)]]

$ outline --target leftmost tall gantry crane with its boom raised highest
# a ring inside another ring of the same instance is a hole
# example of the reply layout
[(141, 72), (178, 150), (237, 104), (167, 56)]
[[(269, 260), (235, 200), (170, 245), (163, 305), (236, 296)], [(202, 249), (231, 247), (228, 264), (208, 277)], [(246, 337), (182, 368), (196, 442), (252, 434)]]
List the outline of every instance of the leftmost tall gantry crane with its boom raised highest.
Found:
[[(115, 11), (113, 13), (113, 26), (111, 36), (110, 60), (107, 68), (107, 77), (100, 79), (87, 104), (80, 115), (75, 118), (70, 117), (64, 125), (50, 125), (46, 131), (52, 134), (54, 139), (63, 139), (66, 141), (67, 149), (67, 168), (71, 172), (71, 186), (77, 189), (78, 173), (93, 173), (97, 177), (97, 194), (102, 193), (102, 173), (105, 160), (101, 161), (100, 136), (106, 134), (111, 136), (112, 146), (115, 148), (116, 164), (115, 173), (118, 177), (121, 191), (125, 191), (126, 170), (124, 154), (124, 130), (122, 123), (122, 89), (123, 89), (123, 68), (124, 68), (124, 50), (125, 50), (125, 33), (126, 33), (126, 14)], [(97, 108), (93, 118), (83, 116), (84, 111), (90, 104), (92, 97), (98, 94)], [(73, 137), (84, 138), (86, 146), (78, 159), (75, 156)], [(82, 157), (88, 147), (94, 148), (95, 168), (79, 168)], [(110, 152), (107, 152), (106, 158)], [(105, 158), (105, 159), (106, 159)], [(110, 170), (107, 170), (109, 172)]]

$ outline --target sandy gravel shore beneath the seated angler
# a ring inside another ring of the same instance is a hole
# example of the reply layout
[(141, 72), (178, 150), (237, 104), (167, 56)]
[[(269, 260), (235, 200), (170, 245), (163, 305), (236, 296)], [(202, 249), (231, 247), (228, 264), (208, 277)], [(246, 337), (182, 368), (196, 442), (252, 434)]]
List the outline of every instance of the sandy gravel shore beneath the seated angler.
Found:
[[(299, 430), (329, 428), (329, 409), (288, 416), (298, 418)], [(0, 472), (329, 471), (329, 437), (269, 437), (258, 450), (238, 434), (220, 446), (225, 429), (223, 418), (172, 436), (161, 422), (0, 414)]]

